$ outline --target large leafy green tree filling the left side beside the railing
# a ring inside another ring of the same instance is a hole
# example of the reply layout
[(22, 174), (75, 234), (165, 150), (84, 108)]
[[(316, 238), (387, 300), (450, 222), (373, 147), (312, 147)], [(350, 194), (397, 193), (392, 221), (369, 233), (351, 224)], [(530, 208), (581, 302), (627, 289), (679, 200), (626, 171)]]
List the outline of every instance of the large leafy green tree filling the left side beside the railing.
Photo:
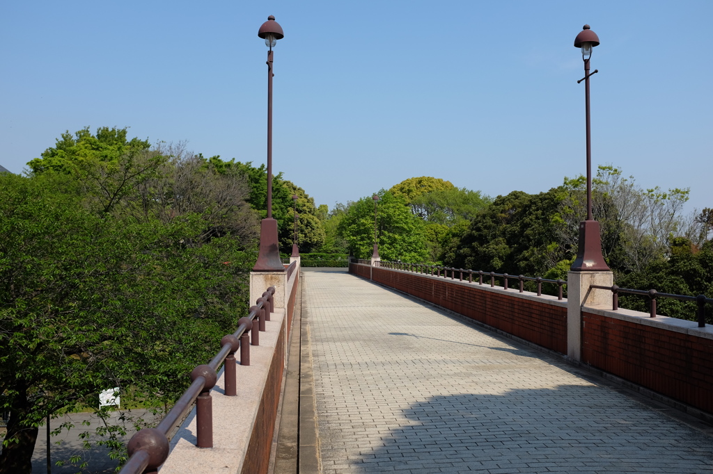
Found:
[[(243, 181), (226, 181), (202, 157), (161, 159), (124, 179), (138, 155), (83, 153), (31, 177), (0, 176), (3, 474), (29, 473), (41, 423), (96, 406), (99, 391), (131, 388), (146, 403), (172, 404), (185, 374), (247, 309), (255, 231), (238, 236), (230, 219), (253, 214), (239, 192), (225, 196)], [(168, 155), (144, 157), (156, 156)], [(111, 172), (97, 171), (110, 162)], [(92, 173), (101, 179), (88, 183)], [(105, 190), (118, 182), (107, 206)], [(118, 456), (122, 430), (106, 430)]]

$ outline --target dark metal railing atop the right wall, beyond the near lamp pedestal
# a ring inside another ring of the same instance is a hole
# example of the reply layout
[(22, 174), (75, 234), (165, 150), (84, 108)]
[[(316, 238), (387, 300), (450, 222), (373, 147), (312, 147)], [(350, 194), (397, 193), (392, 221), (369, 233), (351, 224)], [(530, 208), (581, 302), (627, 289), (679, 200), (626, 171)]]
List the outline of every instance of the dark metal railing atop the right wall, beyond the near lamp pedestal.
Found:
[[(423, 273), (426, 275), (437, 276), (448, 278), (448, 272), (450, 272), (451, 280), (456, 280), (456, 273), (458, 273), (458, 281), (463, 281), (463, 274), (467, 274), (467, 280), (473, 283), (473, 275), (477, 275), (478, 285), (483, 285), (483, 277), (490, 278), (491, 287), (495, 286), (495, 280), (503, 280), (503, 290), (510, 290), (508, 287), (508, 280), (518, 280), (518, 290), (519, 293), (524, 292), (525, 281), (534, 281), (537, 283), (537, 295), (542, 296), (542, 284), (543, 283), (553, 283), (557, 285), (557, 299), (562, 300), (562, 287), (566, 285), (565, 280), (550, 280), (548, 278), (542, 277), (526, 277), (524, 275), (508, 275), (508, 273), (495, 273), (495, 272), (484, 272), (483, 270), (465, 270), (463, 268), (452, 268), (452, 267), (441, 267), (438, 265), (426, 265), (424, 263), (405, 263), (405, 262), (390, 262), (386, 260), (381, 260), (376, 264), (381, 268), (391, 268), (392, 270), (406, 270), (414, 273)], [(443, 273), (441, 275), (441, 272)]]

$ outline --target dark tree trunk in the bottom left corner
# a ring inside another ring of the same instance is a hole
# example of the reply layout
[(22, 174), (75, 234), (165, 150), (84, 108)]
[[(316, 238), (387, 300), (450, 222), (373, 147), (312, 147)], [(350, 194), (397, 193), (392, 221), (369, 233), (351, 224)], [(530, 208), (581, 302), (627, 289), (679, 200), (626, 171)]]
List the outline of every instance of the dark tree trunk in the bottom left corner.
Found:
[(6, 440), (13, 439), (3, 446), (0, 453), (0, 474), (31, 474), (32, 452), (37, 441), (37, 426), (24, 426), (31, 403), (27, 399), (25, 387), (19, 388), (14, 404), (10, 410), (7, 423)]

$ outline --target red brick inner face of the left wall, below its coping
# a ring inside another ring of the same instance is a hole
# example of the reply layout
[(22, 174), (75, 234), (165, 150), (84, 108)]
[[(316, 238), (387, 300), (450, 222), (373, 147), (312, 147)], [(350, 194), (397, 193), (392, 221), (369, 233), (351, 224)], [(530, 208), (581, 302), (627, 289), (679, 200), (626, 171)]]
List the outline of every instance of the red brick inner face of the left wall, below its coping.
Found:
[[(272, 354), (270, 372), (267, 374), (265, 389), (262, 391), (260, 408), (257, 409), (257, 418), (250, 434), (250, 443), (245, 453), (245, 463), (242, 465), (242, 474), (265, 474), (270, 464), (270, 449), (272, 448), (272, 434), (275, 431), (275, 418), (277, 418), (277, 404), (279, 391), (282, 386), (282, 371), (284, 369), (284, 337), (287, 329), (284, 327), (287, 318), (282, 320), (282, 329), (277, 338), (275, 352)], [(240, 371), (240, 367), (238, 367)], [(240, 372), (238, 372), (240, 376)]]

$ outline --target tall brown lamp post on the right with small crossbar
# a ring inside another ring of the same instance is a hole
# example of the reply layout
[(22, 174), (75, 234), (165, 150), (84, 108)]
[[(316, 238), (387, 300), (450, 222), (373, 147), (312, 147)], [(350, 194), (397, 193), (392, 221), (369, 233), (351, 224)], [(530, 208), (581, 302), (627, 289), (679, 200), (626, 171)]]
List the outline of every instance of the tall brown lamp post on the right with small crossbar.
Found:
[(585, 81), (585, 113), (587, 122), (587, 220), (580, 222), (579, 248), (577, 258), (570, 270), (573, 271), (602, 271), (609, 270), (607, 263), (602, 256), (602, 243), (599, 234), (599, 223), (592, 216), (592, 142), (590, 127), (590, 107), (589, 107), (589, 78), (599, 72), (595, 69), (590, 74), (589, 61), (592, 57), (592, 50), (599, 45), (597, 33), (590, 30), (589, 25), (585, 25), (582, 31), (575, 38), (575, 48), (582, 49), (582, 59), (584, 60), (584, 78), (577, 81)]

